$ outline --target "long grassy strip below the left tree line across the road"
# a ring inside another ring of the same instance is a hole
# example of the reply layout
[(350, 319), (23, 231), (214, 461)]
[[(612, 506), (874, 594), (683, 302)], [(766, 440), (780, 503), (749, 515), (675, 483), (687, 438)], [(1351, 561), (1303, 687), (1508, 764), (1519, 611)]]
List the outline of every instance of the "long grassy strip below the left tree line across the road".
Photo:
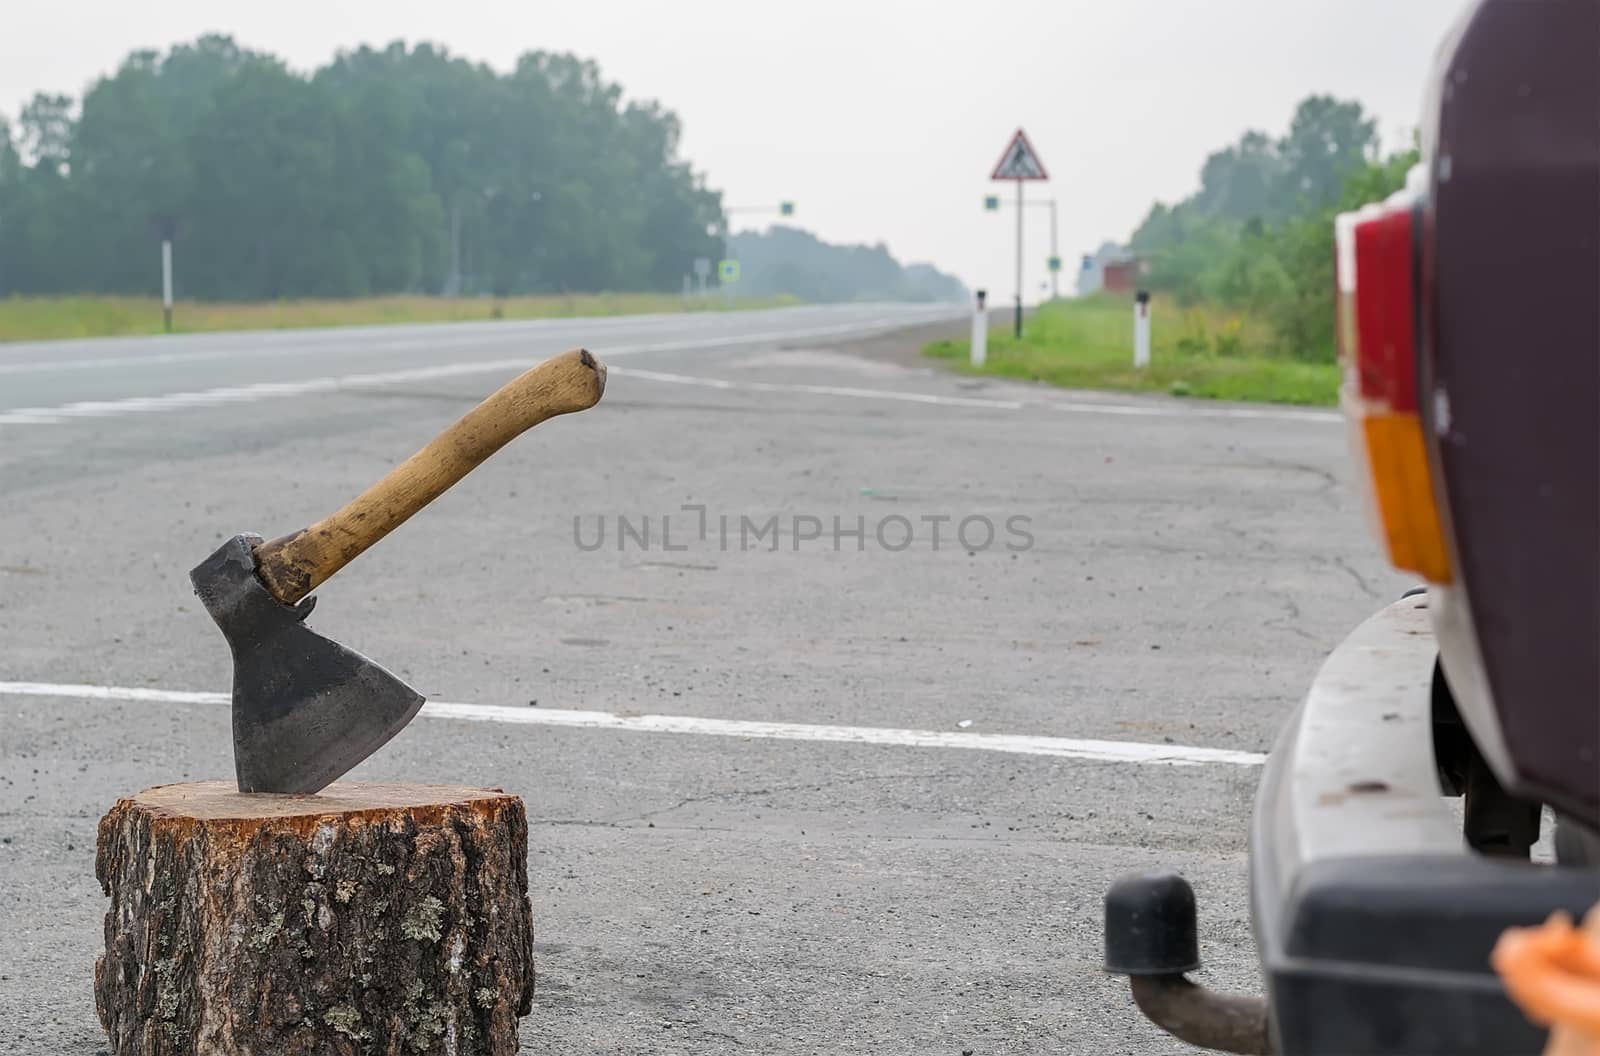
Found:
[[(266, 301), (213, 304), (182, 301), (173, 330), (298, 330), (382, 323), (453, 323), (486, 318), (563, 318), (571, 315), (638, 315), (728, 307), (776, 307), (792, 299), (683, 299), (666, 293), (584, 293), (539, 298), (363, 298), (355, 301)], [(112, 338), (162, 333), (155, 298), (0, 298), (0, 341)]]

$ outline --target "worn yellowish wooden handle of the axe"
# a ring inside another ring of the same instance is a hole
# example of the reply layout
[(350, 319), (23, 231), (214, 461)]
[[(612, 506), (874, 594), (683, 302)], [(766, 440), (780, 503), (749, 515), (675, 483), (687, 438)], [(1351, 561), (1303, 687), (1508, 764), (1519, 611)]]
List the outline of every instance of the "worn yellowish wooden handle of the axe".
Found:
[(256, 574), (294, 605), (453, 483), (547, 418), (584, 411), (605, 392), (605, 363), (584, 349), (549, 358), (466, 413), (331, 517), (256, 547)]

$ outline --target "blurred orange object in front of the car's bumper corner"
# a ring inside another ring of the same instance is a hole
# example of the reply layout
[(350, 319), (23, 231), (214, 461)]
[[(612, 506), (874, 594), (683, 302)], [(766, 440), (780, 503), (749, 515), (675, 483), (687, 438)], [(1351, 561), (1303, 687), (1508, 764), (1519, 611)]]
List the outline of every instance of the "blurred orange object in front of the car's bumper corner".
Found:
[(1490, 963), (1523, 1014), (1550, 1027), (1544, 1056), (1600, 1056), (1600, 906), (1581, 930), (1563, 912), (1507, 928)]

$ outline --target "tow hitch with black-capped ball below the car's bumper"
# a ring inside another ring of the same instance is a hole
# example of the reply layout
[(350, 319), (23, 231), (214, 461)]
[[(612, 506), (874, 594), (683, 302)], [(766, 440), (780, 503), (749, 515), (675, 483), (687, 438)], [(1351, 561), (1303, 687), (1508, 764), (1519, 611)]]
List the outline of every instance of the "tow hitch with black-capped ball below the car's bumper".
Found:
[(1267, 1002), (1184, 978), (1200, 968), (1195, 893), (1176, 872), (1123, 877), (1106, 893), (1106, 971), (1128, 976), (1144, 1018), (1174, 1038), (1222, 1053), (1272, 1056)]

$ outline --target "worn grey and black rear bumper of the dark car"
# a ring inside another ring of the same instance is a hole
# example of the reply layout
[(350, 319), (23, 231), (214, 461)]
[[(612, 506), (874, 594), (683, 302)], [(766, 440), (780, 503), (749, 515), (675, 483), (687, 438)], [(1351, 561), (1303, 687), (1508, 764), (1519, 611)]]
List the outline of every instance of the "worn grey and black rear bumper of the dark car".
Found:
[(1594, 869), (1482, 858), (1440, 794), (1426, 597), (1326, 659), (1262, 774), (1250, 885), (1283, 1056), (1538, 1053), (1488, 955), (1501, 931), (1582, 914)]

